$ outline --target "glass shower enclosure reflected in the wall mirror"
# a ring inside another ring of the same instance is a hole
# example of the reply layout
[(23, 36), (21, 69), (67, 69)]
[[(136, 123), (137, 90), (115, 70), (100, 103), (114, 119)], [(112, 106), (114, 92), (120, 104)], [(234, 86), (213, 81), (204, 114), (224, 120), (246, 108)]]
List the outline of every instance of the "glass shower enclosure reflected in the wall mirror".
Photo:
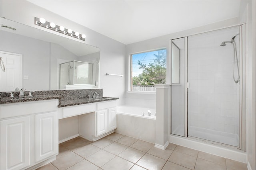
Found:
[(60, 89), (66, 85), (93, 84), (93, 64), (69, 61), (60, 64)]

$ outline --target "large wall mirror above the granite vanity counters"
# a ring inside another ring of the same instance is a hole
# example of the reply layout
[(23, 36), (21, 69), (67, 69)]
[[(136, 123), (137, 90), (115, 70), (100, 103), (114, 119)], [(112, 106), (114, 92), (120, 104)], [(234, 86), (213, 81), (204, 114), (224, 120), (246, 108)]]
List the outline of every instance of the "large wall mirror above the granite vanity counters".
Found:
[[(0, 70), (1, 92), (14, 91), (17, 87), (26, 90), (99, 88), (100, 49), (82, 40), (0, 18), (0, 55), (6, 68), (5, 72)], [(79, 76), (76, 79), (85, 84), (70, 83), (72, 76), (66, 82), (61, 80), (62, 63), (74, 61), (88, 64), (69, 64), (62, 74), (68, 76), (75, 69), (74, 75)], [(90, 81), (81, 81), (88, 78)]]

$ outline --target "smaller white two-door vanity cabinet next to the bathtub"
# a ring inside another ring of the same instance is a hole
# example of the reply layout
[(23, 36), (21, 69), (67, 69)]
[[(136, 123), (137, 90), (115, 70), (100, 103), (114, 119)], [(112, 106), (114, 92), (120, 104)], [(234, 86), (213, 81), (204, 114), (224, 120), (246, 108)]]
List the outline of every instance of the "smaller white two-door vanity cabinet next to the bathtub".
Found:
[(95, 113), (79, 115), (79, 135), (96, 141), (116, 129), (116, 100), (96, 103)]

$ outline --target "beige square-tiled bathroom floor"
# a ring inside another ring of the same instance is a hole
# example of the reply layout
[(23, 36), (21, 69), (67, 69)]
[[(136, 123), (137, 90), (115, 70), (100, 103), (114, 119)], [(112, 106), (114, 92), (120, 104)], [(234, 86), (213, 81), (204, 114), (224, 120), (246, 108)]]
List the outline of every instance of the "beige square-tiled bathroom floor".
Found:
[(96, 142), (77, 137), (61, 143), (53, 162), (38, 170), (247, 170), (246, 164), (170, 143), (152, 143), (112, 133)]

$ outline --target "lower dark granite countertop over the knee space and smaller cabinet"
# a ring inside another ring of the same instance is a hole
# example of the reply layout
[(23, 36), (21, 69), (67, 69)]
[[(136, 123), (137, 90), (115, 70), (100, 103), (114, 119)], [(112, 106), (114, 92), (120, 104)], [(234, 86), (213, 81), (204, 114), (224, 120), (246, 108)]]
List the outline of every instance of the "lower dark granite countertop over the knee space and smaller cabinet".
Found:
[(70, 100), (59, 100), (58, 107), (66, 107), (66, 106), (75, 106), (80, 104), (89, 104), (89, 103), (95, 103), (95, 102), (104, 102), (109, 100), (117, 100), (119, 98), (116, 97), (102, 97), (102, 98), (91, 98), (89, 100), (88, 98), (82, 98), (82, 99), (70, 99)]

